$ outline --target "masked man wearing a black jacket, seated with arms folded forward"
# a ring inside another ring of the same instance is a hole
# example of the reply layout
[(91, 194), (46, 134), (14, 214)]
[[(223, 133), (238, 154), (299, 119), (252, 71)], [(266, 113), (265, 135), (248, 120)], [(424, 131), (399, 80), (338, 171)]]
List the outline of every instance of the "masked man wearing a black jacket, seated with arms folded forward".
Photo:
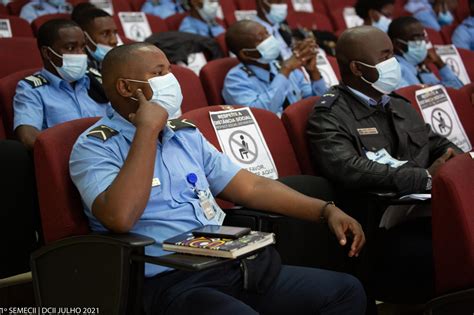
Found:
[[(337, 43), (336, 56), (343, 83), (321, 97), (308, 122), (318, 172), (341, 187), (345, 198), (374, 190), (400, 195), (429, 191), (439, 167), (461, 151), (433, 133), (406, 99), (392, 93), (400, 66), (389, 37), (371, 26), (349, 29)], [(359, 220), (367, 215), (352, 210)], [(416, 210), (390, 229), (377, 230), (377, 241), (383, 242), (377, 264), (392, 271), (383, 279), (392, 288), (429, 291), (430, 212)]]

